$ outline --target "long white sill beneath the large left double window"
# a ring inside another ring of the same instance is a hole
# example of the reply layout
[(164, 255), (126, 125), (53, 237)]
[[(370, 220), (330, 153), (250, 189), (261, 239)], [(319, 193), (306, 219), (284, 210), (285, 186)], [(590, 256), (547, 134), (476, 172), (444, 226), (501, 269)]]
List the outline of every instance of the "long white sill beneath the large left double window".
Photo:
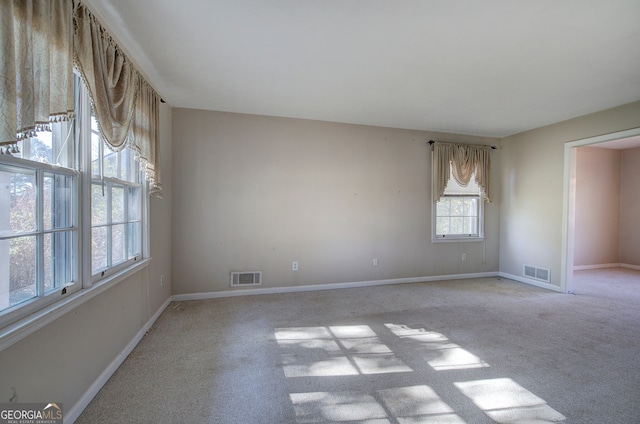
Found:
[(60, 318), (67, 312), (72, 311), (88, 300), (93, 299), (100, 293), (105, 292), (127, 277), (133, 275), (146, 268), (151, 262), (151, 258), (143, 259), (142, 261), (134, 264), (133, 266), (124, 269), (93, 286), (80, 289), (70, 294), (67, 298), (48, 305), (33, 314), (24, 317), (12, 324), (7, 325), (0, 329), (0, 352), (9, 346), (19, 342), (25, 337), (33, 334), (39, 329), (43, 328), (47, 324)]

